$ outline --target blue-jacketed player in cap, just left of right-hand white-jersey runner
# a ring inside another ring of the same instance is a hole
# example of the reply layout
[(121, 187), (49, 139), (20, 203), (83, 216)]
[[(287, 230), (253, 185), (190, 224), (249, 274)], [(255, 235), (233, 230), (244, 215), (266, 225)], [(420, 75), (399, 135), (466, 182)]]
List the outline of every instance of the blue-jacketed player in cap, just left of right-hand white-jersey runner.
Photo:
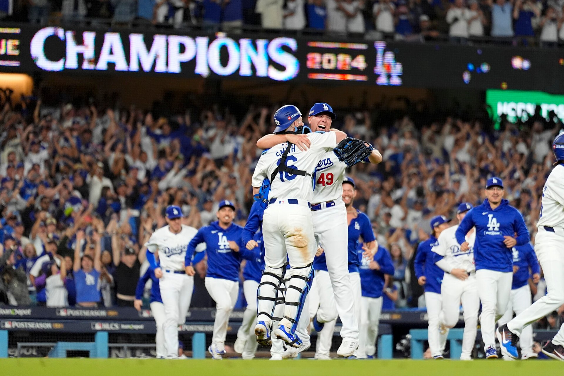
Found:
[(431, 236), (419, 244), (417, 254), (415, 255), (415, 262), (413, 263), (418, 284), (425, 286), (425, 306), (427, 307), (429, 319), (428, 339), (431, 355), (434, 359), (443, 359), (448, 332), (439, 332), (439, 315), (443, 309), (443, 300), (440, 297), (440, 284), (443, 280), (444, 271), (435, 265), (434, 254), (431, 249), (437, 243), (440, 233), (449, 227), (449, 222), (451, 220), (444, 215), (438, 215), (431, 219)]

